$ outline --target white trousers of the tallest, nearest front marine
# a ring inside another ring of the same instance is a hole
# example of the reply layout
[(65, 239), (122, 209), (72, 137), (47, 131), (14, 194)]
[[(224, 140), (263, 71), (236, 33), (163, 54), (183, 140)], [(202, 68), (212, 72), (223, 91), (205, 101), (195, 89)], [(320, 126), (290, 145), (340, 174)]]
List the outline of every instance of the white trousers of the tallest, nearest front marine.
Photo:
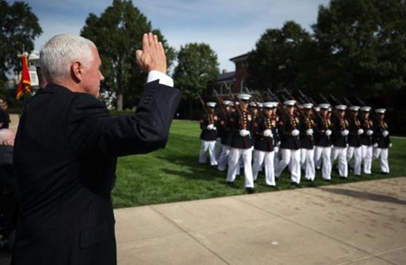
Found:
[(246, 188), (254, 188), (253, 171), (251, 167), (253, 149), (239, 149), (231, 147), (229, 158), (229, 169), (227, 171), (227, 181), (234, 182), (237, 169), (240, 168), (240, 157), (244, 161), (244, 177)]

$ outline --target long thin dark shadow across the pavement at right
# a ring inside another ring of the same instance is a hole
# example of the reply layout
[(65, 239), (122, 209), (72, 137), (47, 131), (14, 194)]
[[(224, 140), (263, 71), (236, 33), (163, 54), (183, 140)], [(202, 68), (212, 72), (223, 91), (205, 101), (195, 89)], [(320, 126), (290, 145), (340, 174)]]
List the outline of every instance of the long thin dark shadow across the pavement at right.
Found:
[(320, 189), (323, 191), (326, 191), (326, 192), (350, 196), (350, 197), (354, 197), (354, 198), (358, 198), (358, 199), (406, 205), (406, 201), (404, 201), (404, 200), (400, 200), (400, 199), (386, 196), (386, 195), (366, 192), (366, 191), (347, 190), (347, 189), (343, 189), (343, 188), (320, 188)]

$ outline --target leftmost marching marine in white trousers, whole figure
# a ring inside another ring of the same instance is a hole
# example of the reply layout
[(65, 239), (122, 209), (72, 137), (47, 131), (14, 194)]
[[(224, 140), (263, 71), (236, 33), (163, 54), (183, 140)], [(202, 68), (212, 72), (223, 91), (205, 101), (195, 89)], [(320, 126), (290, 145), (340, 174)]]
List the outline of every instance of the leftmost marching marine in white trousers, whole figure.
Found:
[(207, 114), (200, 120), (200, 128), (202, 129), (202, 132), (200, 134), (201, 147), (199, 152), (199, 163), (206, 163), (206, 153), (208, 151), (211, 166), (217, 166), (216, 139), (219, 119), (215, 113), (215, 107), (215, 102), (207, 102)]

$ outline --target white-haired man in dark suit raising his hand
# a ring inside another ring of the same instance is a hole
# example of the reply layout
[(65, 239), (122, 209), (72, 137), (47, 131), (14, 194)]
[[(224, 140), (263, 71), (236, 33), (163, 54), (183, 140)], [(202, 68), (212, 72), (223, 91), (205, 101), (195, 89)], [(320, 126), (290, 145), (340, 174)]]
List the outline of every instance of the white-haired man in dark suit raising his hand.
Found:
[(12, 264), (117, 263), (117, 157), (164, 148), (181, 96), (157, 36), (144, 34), (136, 59), (149, 72), (145, 92), (133, 115), (112, 117), (97, 99), (104, 77), (91, 41), (58, 35), (41, 50), (48, 85), (26, 106), (15, 140), (21, 213)]

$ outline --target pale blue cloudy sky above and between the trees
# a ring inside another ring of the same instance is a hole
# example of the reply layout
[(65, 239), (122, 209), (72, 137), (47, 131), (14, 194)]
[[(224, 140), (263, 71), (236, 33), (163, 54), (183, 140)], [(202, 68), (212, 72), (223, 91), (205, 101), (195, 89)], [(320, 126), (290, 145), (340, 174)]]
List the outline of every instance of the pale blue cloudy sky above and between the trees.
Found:
[[(39, 18), (43, 34), (35, 49), (56, 34), (76, 33), (89, 13), (100, 15), (112, 0), (26, 0)], [(14, 1), (11, 1), (14, 2)], [(179, 50), (192, 42), (208, 43), (220, 69), (234, 71), (230, 58), (251, 51), (267, 28), (294, 20), (308, 31), (317, 20), (320, 4), (329, 0), (133, 0), (153, 28)]]

